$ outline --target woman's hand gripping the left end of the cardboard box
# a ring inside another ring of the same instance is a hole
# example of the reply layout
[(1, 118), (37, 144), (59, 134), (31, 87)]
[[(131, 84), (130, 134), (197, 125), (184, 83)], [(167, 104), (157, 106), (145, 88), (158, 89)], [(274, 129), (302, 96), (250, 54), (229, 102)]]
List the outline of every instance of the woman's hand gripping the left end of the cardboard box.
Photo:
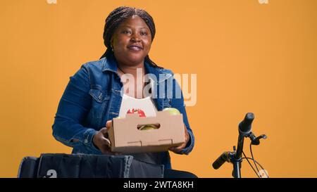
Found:
[(108, 139), (108, 130), (111, 127), (111, 120), (108, 120), (106, 122), (106, 127), (100, 129), (97, 134), (94, 134), (94, 138), (92, 139), (92, 142), (94, 143), (97, 148), (101, 151), (101, 153), (104, 153), (106, 155), (115, 155), (116, 153), (111, 152), (111, 142)]

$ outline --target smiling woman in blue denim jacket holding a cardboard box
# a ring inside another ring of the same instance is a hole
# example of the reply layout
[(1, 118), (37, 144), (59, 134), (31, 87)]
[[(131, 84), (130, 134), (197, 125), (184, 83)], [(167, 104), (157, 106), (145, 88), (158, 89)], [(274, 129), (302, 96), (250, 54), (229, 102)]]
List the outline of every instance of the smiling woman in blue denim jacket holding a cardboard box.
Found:
[[(100, 60), (85, 63), (70, 77), (52, 126), (56, 140), (73, 147), (73, 153), (113, 154), (107, 132), (111, 120), (119, 115), (122, 95), (144, 98), (143, 89), (147, 85), (137, 83), (139, 79), (143, 82), (144, 75), (151, 74), (159, 79), (156, 84), (152, 84), (158, 86), (151, 87), (151, 91), (157, 91), (159, 95), (153, 98), (157, 110), (172, 107), (183, 115), (185, 143), (170, 148), (170, 151), (186, 155), (192, 151), (194, 135), (187, 120), (183, 96), (166, 96), (175, 95), (180, 87), (173, 79), (173, 72), (159, 67), (149, 58), (154, 35), (154, 20), (142, 9), (122, 6), (108, 15), (104, 27), (106, 52)], [(142, 75), (137, 75), (140, 69)], [(137, 80), (123, 84), (120, 77), (127, 74)], [(160, 94), (159, 85), (171, 79), (176, 86), (167, 94)], [(130, 91), (129, 87), (136, 89)], [(165, 165), (164, 177), (196, 177), (189, 172), (171, 169), (168, 151), (134, 156), (139, 160)]]

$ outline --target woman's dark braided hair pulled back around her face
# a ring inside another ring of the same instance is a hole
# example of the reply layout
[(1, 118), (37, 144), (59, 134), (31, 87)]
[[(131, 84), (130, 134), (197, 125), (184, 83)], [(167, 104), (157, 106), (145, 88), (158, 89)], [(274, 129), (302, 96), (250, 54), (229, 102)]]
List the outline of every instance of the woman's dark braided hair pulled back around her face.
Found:
[[(114, 56), (114, 53), (111, 49), (111, 37), (116, 31), (116, 28), (128, 18), (131, 18), (132, 15), (139, 16), (144, 20), (145, 23), (147, 23), (147, 26), (151, 31), (151, 40), (153, 41), (155, 36), (155, 24), (151, 15), (149, 15), (149, 13), (147, 13), (147, 11), (144, 11), (143, 9), (120, 6), (111, 11), (111, 13), (106, 18), (106, 24), (104, 25), (104, 45), (107, 49), (104, 55), (101, 56), (101, 58)], [(161, 68), (149, 58), (149, 55), (144, 58), (144, 61), (155, 68)]]

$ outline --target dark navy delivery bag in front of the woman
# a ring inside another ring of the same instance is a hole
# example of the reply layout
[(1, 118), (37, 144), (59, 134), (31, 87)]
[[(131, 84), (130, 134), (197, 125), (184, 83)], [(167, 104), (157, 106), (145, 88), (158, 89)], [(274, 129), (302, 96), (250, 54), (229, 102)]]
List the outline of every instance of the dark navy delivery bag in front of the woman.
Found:
[(132, 155), (42, 154), (25, 157), (18, 178), (162, 178), (164, 165), (133, 159)]

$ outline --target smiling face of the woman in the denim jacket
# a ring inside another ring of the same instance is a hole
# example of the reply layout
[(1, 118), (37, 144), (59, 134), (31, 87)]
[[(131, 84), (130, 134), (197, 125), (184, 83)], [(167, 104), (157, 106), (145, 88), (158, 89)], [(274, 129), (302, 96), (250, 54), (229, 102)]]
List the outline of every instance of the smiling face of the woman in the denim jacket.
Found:
[(119, 63), (139, 65), (151, 49), (151, 31), (142, 18), (133, 15), (118, 26), (111, 44)]

